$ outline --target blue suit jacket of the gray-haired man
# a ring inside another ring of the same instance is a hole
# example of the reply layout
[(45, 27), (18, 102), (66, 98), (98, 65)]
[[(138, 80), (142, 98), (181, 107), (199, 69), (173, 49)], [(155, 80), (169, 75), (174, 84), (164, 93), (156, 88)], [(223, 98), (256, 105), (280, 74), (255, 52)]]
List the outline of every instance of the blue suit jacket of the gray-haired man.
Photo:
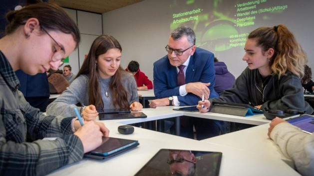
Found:
[[(154, 93), (157, 98), (178, 96), (180, 106), (195, 105), (201, 98), (193, 93), (180, 96), (177, 86), (177, 69), (170, 65), (168, 55), (154, 63)], [(196, 48), (185, 74), (185, 83), (211, 83), (210, 98), (218, 97), (215, 91), (214, 54), (202, 48)]]

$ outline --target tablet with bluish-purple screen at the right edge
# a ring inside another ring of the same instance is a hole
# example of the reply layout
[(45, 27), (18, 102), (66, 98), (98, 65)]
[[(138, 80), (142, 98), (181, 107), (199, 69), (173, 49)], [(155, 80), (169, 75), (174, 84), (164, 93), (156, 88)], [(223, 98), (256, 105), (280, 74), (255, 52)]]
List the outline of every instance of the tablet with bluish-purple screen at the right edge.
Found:
[(311, 115), (305, 114), (299, 117), (290, 118), (287, 121), (301, 128), (306, 133), (314, 133), (314, 117)]

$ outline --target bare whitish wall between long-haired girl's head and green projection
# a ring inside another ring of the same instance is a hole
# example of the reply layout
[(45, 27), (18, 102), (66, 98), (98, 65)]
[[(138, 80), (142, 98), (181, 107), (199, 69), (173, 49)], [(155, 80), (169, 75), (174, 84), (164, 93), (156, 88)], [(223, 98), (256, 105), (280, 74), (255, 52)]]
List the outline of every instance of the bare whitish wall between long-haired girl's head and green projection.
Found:
[[(153, 63), (165, 56), (170, 34), (167, 12), (161, 7), (167, 0), (144, 0), (102, 15), (103, 31), (122, 46), (121, 66), (136, 60), (140, 69), (153, 80)], [(156, 7), (156, 8), (155, 8)]]

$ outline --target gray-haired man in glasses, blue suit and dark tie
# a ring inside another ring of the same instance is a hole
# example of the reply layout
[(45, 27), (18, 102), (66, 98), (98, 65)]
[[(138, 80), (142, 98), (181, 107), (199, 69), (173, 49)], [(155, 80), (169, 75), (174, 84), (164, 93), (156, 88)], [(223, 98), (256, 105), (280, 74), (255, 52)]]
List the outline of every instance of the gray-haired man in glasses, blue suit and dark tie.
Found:
[[(214, 90), (214, 54), (195, 46), (195, 33), (187, 26), (176, 28), (166, 46), (167, 56), (154, 63), (154, 99), (150, 107), (196, 105), (199, 100), (219, 96)], [(182, 78), (183, 77), (183, 78)], [(224, 131), (224, 123), (202, 118), (183, 117), (180, 134), (197, 139), (217, 136)]]

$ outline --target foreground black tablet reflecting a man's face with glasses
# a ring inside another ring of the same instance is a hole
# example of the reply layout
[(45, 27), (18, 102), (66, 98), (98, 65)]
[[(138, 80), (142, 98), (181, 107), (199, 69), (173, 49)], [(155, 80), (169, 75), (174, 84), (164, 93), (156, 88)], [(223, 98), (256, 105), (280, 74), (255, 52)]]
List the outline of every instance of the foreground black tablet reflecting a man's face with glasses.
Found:
[(219, 176), (221, 152), (161, 149), (135, 176)]

